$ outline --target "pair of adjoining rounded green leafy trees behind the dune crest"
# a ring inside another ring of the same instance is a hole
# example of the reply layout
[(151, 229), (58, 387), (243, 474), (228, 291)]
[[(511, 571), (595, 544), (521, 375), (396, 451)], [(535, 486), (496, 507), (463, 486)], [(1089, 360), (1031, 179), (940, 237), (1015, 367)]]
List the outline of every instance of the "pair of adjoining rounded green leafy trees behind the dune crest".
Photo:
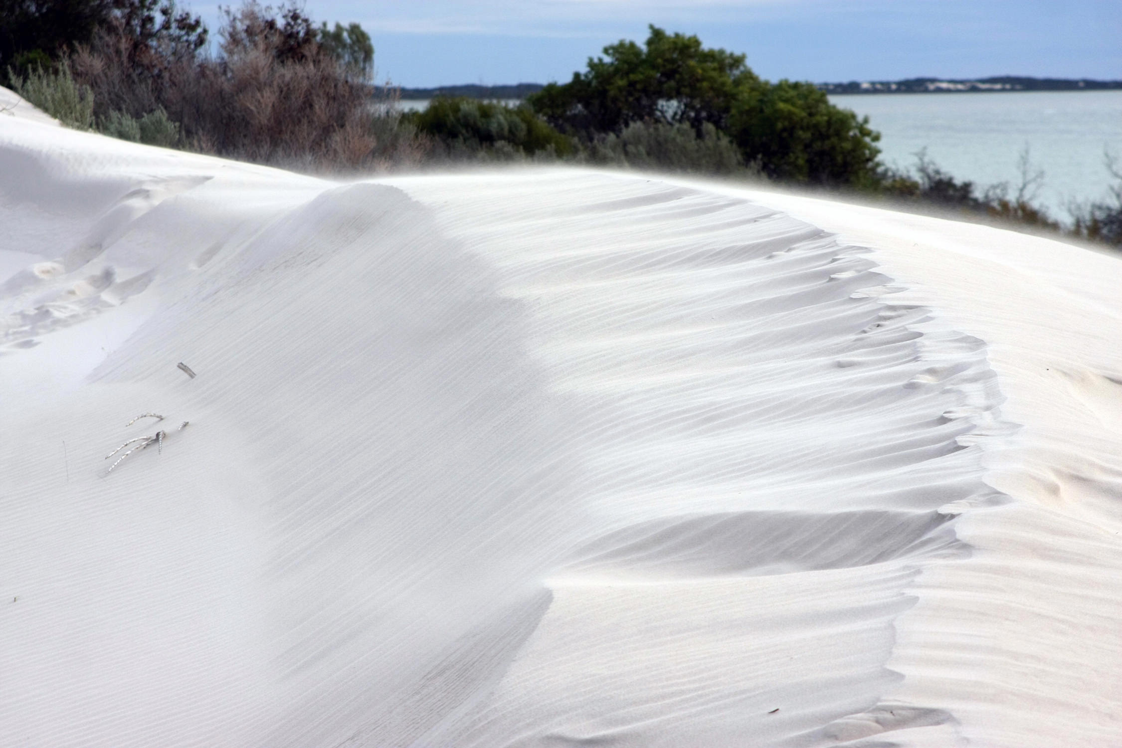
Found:
[(775, 179), (862, 186), (876, 177), (880, 136), (809, 83), (762, 81), (744, 55), (654, 26), (644, 46), (623, 40), (604, 54), (530, 96), (534, 110), (583, 142), (638, 122), (687, 126), (699, 140), (708, 127)]

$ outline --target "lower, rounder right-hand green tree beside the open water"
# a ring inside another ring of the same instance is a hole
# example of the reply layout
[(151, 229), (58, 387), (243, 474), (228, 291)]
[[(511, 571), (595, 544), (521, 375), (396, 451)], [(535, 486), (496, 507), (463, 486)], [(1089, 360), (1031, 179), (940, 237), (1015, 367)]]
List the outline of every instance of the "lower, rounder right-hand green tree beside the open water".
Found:
[(788, 182), (868, 186), (876, 179), (879, 132), (810, 83), (755, 86), (737, 100), (729, 136), (764, 173)]

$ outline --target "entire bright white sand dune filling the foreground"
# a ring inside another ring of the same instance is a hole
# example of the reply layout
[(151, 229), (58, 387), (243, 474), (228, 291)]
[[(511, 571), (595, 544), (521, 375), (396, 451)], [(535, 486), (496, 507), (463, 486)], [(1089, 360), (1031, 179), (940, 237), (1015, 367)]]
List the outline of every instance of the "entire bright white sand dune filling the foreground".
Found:
[(0, 225), (0, 745), (1122, 745), (1116, 257), (18, 113)]

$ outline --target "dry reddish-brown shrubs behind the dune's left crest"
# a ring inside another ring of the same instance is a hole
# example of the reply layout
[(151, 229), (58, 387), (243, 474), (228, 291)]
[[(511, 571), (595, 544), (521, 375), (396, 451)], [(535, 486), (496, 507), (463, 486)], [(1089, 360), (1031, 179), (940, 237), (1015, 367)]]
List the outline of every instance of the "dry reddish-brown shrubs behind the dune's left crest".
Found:
[(75, 77), (93, 90), (99, 118), (163, 107), (183, 144), (203, 153), (312, 172), (424, 158), (426, 142), (401, 121), (393, 99), (376, 100), (298, 9), (250, 2), (228, 10), (221, 38), (221, 54), (208, 56), (159, 39), (138, 45), (118, 24), (77, 49)]

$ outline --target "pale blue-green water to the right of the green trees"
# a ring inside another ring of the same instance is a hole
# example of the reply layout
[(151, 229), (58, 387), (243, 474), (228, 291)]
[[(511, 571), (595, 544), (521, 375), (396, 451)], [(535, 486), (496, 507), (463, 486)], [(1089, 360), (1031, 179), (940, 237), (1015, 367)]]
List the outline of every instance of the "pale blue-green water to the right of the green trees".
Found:
[(830, 96), (867, 114), (881, 132), (881, 158), (908, 167), (928, 156), (946, 172), (980, 185), (1015, 183), (1018, 154), (1029, 146), (1045, 170), (1038, 202), (1067, 219), (1068, 201), (1104, 197), (1110, 148), (1122, 166), (1122, 91), (900, 93)]

